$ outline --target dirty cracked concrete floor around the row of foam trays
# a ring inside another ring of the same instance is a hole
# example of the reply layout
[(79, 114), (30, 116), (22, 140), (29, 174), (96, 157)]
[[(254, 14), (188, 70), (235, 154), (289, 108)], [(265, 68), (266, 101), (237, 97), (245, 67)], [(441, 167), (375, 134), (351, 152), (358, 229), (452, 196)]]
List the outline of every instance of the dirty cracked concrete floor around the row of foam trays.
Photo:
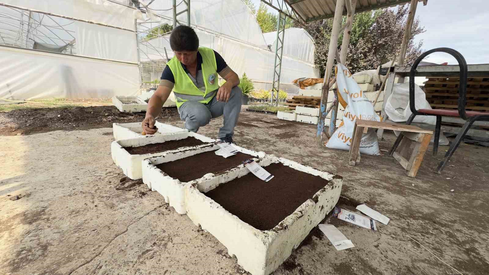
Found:
[[(215, 137), (221, 124), (200, 133)], [(216, 238), (157, 192), (119, 183), (111, 131), (0, 139), (0, 274), (243, 274)], [(343, 176), (339, 206), (366, 203), (391, 222), (371, 231), (330, 217), (356, 247), (336, 251), (315, 232), (274, 274), (489, 272), (488, 148), (462, 144), (442, 175), (433, 171), (448, 147), (437, 158), (429, 148), (412, 179), (385, 155), (349, 166), (347, 152), (317, 148), (314, 133), (314, 125), (243, 112), (235, 140)], [(385, 150), (394, 135), (384, 137)], [(9, 200), (17, 194), (30, 195)]]

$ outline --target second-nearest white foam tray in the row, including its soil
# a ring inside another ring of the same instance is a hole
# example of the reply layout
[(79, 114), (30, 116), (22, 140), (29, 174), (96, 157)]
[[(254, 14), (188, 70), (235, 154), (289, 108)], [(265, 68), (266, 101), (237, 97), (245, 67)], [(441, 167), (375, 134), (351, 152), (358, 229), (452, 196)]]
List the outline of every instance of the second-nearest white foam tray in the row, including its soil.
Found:
[(218, 185), (225, 180), (221, 175), (243, 168), (244, 160), (266, 156), (264, 152), (234, 147), (239, 153), (226, 159), (215, 154), (220, 148), (215, 144), (145, 159), (142, 161), (143, 183), (160, 193), (177, 213), (185, 214), (185, 185), (202, 181)]

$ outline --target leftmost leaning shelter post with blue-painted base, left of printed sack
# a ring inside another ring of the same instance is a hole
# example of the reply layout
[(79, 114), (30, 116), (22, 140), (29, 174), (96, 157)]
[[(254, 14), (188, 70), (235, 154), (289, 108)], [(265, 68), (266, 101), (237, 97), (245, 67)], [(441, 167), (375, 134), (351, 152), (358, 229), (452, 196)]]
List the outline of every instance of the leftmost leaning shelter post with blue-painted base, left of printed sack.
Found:
[(333, 71), (334, 56), (337, 51), (338, 33), (341, 26), (341, 16), (345, 0), (337, 0), (334, 10), (333, 28), (331, 30), (330, 48), (328, 50), (328, 61), (326, 63), (326, 72), (323, 80), (323, 92), (321, 93), (321, 106), (319, 109), (319, 121), (317, 122), (316, 143), (323, 146), (322, 138), (324, 132), (324, 120), (326, 119), (326, 105), (328, 103), (328, 92), (330, 89), (330, 76)]

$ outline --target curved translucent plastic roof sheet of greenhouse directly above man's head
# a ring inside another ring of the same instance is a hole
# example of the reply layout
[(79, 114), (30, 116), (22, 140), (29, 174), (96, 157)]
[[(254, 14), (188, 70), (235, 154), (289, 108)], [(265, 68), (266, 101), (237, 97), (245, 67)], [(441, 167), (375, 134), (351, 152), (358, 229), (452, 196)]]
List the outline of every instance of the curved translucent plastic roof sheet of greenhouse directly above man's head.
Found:
[[(173, 18), (172, 1), (154, 1), (149, 8), (150, 11), (166, 19), (172, 20)], [(177, 6), (177, 13), (186, 8), (186, 5), (181, 3)], [(163, 9), (170, 10), (157, 11)], [(186, 24), (186, 12), (180, 14), (177, 19)], [(267, 48), (255, 16), (242, 0), (192, 0), (190, 2), (190, 23), (200, 30)]]

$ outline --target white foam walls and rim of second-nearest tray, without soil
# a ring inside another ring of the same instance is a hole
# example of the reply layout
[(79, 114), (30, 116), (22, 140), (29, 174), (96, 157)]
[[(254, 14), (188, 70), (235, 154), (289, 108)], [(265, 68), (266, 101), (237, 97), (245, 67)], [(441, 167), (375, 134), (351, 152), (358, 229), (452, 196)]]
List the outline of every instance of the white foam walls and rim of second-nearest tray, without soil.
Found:
[[(255, 160), (264, 158), (266, 154), (264, 152), (256, 152), (252, 150), (245, 149), (243, 147), (239, 147), (236, 145), (232, 145), (238, 151), (254, 156)], [(202, 176), (199, 179), (192, 180), (188, 183), (180, 182), (178, 179), (174, 179), (169, 175), (165, 174), (164, 171), (157, 168), (156, 165), (170, 162), (174, 160), (180, 160), (183, 158), (192, 158), (192, 156), (208, 152), (218, 150), (220, 147), (218, 145), (212, 144), (209, 146), (204, 146), (195, 150), (185, 150), (180, 152), (168, 153), (161, 157), (153, 157), (149, 159), (145, 159), (142, 161), (142, 172), (143, 172), (143, 183), (148, 185), (151, 190), (157, 191), (163, 198), (165, 202), (175, 208), (178, 214), (185, 214), (185, 185), (191, 183), (201, 183), (201, 182), (214, 182), (219, 184), (222, 182), (222, 173), (221, 174), (213, 174), (208, 173)], [(228, 158), (232, 158), (228, 157)], [(240, 164), (235, 168), (231, 168), (229, 171), (234, 171), (236, 169), (243, 168), (244, 165)]]

